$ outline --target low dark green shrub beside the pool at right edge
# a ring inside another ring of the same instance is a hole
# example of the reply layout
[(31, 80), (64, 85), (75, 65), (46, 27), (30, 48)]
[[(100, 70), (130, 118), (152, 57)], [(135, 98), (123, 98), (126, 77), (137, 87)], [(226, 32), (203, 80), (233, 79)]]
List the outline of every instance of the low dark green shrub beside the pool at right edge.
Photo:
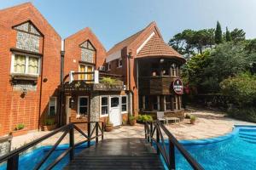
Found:
[(247, 108), (232, 108), (228, 110), (228, 115), (237, 119), (248, 122), (256, 122), (256, 108), (247, 107)]

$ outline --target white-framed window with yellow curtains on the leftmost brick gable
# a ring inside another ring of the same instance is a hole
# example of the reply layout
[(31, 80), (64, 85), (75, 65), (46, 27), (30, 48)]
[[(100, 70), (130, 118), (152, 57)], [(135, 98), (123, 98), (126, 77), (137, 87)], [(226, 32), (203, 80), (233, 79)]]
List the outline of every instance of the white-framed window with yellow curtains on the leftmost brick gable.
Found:
[(39, 74), (39, 61), (38, 57), (27, 56), (25, 54), (13, 54), (12, 73), (20, 74)]

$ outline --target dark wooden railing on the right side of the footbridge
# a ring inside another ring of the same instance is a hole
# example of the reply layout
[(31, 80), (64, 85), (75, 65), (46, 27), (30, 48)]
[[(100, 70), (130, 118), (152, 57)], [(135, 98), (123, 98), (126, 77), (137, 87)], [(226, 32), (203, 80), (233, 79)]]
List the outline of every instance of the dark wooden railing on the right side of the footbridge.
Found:
[[(169, 150), (166, 148), (166, 142), (162, 131), (166, 134)], [(151, 144), (156, 144), (157, 154), (163, 156), (166, 166), (169, 169), (175, 169), (175, 147), (183, 157), (189, 162), (190, 166), (196, 170), (201, 170), (203, 167), (195, 161), (182, 144), (179, 144), (177, 139), (168, 131), (168, 129), (158, 120), (155, 122), (145, 122), (145, 139)]]

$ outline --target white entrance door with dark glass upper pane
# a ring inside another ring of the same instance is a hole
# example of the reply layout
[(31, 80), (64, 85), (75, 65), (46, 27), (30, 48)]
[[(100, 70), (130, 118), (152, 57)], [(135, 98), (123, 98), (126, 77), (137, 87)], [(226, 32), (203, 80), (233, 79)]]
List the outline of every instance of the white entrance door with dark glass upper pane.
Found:
[(113, 126), (121, 125), (121, 111), (119, 97), (110, 97), (109, 119)]

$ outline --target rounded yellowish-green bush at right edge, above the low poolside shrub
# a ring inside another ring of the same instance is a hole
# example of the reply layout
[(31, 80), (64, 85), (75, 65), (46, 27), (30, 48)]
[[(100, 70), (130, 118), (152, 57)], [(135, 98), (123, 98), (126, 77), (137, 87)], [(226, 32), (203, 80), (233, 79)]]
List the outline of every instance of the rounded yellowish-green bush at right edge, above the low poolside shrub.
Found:
[(255, 105), (256, 103), (256, 76), (243, 73), (230, 77), (220, 83), (222, 92), (232, 98), (232, 102), (240, 107)]

